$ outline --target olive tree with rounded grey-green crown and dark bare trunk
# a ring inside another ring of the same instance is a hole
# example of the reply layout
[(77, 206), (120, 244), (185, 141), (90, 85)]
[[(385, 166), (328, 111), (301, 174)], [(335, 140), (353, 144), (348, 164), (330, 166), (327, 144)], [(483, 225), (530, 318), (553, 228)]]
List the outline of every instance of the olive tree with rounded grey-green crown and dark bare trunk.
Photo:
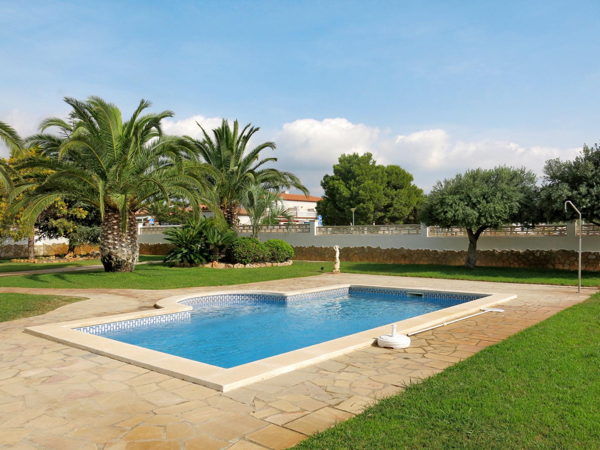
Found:
[(535, 174), (524, 167), (467, 170), (438, 181), (419, 218), (427, 226), (466, 228), (469, 250), (464, 266), (472, 269), (477, 262), (477, 241), (484, 230), (538, 222), (536, 182)]

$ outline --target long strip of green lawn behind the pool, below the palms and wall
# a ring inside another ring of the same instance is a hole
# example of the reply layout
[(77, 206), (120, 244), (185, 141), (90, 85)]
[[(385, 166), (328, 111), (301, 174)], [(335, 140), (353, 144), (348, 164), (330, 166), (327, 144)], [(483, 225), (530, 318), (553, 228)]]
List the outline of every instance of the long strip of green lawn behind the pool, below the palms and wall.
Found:
[[(134, 272), (125, 274), (107, 274), (100, 269), (98, 271), (0, 277), (0, 286), (71, 287), (82, 289), (172, 289), (174, 287), (224, 286), (227, 284), (242, 284), (253, 281), (280, 280), (282, 278), (318, 275), (321, 273), (321, 267), (325, 268), (325, 272), (331, 271), (332, 263), (296, 261), (292, 266), (219, 270), (208, 268), (176, 268), (163, 264), (151, 264), (137, 266)], [(404, 277), (454, 278), (458, 280), (504, 281), (509, 283), (568, 284), (571, 286), (577, 284), (576, 271), (552, 269), (481, 267), (467, 270), (454, 266), (343, 262), (341, 270), (357, 274), (397, 275)], [(584, 286), (598, 286), (599, 284), (600, 273), (583, 273)]]

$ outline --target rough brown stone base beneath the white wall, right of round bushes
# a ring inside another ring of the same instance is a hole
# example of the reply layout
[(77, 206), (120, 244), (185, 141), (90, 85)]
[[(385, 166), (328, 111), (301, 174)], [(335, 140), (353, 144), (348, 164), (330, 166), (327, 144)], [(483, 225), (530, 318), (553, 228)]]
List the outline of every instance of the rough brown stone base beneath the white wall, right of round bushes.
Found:
[[(333, 247), (294, 247), (294, 259), (305, 261), (333, 261)], [(467, 251), (412, 250), (410, 248), (343, 247), (341, 261), (377, 262), (396, 264), (440, 264), (461, 266)], [(486, 267), (522, 267), (538, 269), (577, 270), (577, 251), (574, 250), (478, 250), (477, 265)], [(600, 271), (600, 252), (581, 253), (581, 268)]]

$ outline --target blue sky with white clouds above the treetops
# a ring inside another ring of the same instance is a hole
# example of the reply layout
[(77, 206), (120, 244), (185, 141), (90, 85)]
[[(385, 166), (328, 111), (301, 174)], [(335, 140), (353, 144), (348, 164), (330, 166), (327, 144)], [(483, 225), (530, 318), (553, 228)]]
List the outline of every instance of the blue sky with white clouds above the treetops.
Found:
[(0, 1), (0, 119), (23, 134), (101, 95), (239, 118), (315, 194), (342, 152), (426, 190), (469, 167), (540, 173), (600, 136), (600, 2)]

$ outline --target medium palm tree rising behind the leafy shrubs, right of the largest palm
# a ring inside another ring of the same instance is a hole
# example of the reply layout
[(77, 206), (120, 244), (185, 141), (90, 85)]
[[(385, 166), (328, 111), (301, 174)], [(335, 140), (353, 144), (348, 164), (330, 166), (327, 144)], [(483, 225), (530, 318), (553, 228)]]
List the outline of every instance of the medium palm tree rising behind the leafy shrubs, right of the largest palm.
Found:
[(190, 136), (184, 136), (184, 139), (191, 151), (212, 167), (214, 175), (209, 175), (209, 182), (224, 217), (233, 226), (238, 224), (238, 209), (250, 185), (262, 185), (265, 189), (277, 192), (294, 187), (308, 195), (307, 188), (298, 176), (266, 166), (267, 163), (276, 162), (277, 158), (260, 159), (260, 152), (264, 149), (275, 149), (274, 142), (263, 142), (253, 149), (247, 148), (248, 141), (260, 128), (248, 124), (240, 130), (239, 122), (235, 121), (232, 129), (229, 122), (223, 119), (221, 126), (212, 130), (214, 138), (200, 128), (204, 139)]

